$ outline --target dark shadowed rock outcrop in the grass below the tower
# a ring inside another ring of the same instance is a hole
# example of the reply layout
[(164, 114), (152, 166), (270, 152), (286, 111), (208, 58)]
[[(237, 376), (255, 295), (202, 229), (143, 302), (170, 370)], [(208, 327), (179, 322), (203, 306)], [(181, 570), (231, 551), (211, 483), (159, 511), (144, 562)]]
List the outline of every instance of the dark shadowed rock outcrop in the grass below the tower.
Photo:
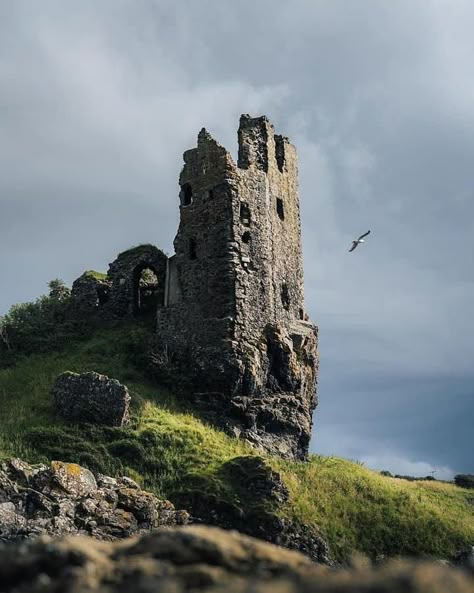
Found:
[(288, 489), (280, 475), (259, 457), (238, 457), (220, 470), (232, 484), (232, 502), (195, 487), (174, 496), (179, 506), (188, 508), (196, 520), (237, 529), (291, 550), (303, 552), (315, 562), (332, 564), (329, 547), (317, 529), (279, 516), (278, 507), (288, 500)]

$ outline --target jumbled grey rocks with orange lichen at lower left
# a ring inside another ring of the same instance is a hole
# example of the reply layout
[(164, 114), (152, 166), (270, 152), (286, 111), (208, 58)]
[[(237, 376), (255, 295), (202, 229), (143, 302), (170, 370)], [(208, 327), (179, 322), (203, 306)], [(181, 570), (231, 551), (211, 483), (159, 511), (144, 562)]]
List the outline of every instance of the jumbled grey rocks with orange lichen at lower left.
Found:
[(18, 459), (0, 465), (0, 541), (48, 533), (86, 534), (114, 540), (162, 525), (187, 523), (130, 478), (94, 476), (74, 463), (30, 466)]

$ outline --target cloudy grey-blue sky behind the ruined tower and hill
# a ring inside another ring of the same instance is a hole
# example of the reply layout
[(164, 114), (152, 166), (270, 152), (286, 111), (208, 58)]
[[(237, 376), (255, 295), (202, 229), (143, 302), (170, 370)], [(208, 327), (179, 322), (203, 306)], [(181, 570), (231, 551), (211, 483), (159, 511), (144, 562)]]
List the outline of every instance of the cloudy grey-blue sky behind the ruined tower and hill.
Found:
[(0, 0), (0, 314), (171, 252), (183, 151), (205, 126), (235, 155), (264, 113), (300, 157), (312, 450), (474, 472), (473, 24), (472, 0)]

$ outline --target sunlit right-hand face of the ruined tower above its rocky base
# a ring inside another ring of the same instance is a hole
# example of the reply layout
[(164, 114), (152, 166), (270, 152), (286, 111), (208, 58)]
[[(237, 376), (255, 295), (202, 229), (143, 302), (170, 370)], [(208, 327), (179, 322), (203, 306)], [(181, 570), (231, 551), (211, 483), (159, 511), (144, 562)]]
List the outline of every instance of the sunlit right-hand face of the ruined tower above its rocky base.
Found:
[(238, 166), (237, 337), (252, 340), (266, 323), (304, 315), (296, 151), (266, 117), (242, 116)]

